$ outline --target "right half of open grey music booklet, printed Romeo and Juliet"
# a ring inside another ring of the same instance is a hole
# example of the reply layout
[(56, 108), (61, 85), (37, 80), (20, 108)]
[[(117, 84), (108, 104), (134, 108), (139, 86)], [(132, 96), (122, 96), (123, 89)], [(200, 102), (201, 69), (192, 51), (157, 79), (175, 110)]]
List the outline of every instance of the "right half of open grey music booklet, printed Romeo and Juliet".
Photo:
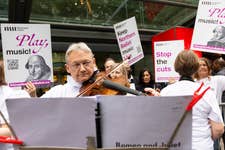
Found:
[(102, 114), (102, 146), (104, 148), (157, 148), (190, 150), (192, 113), (188, 113), (172, 143), (181, 116), (192, 96), (99, 97)]

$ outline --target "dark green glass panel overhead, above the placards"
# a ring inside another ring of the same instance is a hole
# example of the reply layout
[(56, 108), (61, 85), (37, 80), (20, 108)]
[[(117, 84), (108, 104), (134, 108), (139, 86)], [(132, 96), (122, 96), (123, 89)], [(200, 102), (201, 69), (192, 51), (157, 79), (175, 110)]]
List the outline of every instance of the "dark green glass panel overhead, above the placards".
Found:
[(197, 0), (161, 3), (142, 0), (33, 0), (30, 19), (31, 22), (112, 27), (135, 16), (139, 29), (165, 30), (193, 19), (197, 5)]

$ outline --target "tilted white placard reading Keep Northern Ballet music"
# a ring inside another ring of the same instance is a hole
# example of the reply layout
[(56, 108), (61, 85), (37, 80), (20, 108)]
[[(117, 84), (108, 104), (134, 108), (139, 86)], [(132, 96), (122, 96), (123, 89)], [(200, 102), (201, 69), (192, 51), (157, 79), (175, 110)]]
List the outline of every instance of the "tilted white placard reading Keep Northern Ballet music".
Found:
[(123, 60), (132, 65), (144, 57), (135, 17), (115, 24), (114, 30)]

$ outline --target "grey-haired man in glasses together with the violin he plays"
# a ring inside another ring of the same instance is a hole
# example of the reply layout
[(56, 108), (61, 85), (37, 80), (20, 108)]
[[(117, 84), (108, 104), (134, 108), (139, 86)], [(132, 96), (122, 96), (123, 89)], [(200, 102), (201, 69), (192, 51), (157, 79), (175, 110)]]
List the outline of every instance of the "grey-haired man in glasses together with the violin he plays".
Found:
[[(124, 82), (121, 83), (119, 81), (124, 80), (116, 80), (115, 83), (117, 83), (117, 85), (114, 85), (114, 89), (112, 87), (105, 87), (105, 85), (103, 86), (103, 81), (109, 79), (108, 74), (116, 71), (119, 67), (122, 67), (123, 63), (119, 64), (109, 73), (98, 72), (94, 54), (83, 42), (73, 43), (70, 45), (66, 51), (65, 59), (66, 70), (71, 75), (67, 78), (67, 83), (52, 87), (49, 91), (43, 94), (41, 98), (121, 95), (121, 90), (126, 93), (133, 92), (135, 94), (139, 94), (137, 91), (129, 91), (129, 89), (124, 89), (123, 87), (119, 87), (118, 89), (118, 85), (124, 86)], [(111, 81), (114, 82), (112, 79)], [(110, 83), (110, 86), (112, 86), (112, 82)], [(107, 82), (107, 85), (109, 85), (109, 82)]]

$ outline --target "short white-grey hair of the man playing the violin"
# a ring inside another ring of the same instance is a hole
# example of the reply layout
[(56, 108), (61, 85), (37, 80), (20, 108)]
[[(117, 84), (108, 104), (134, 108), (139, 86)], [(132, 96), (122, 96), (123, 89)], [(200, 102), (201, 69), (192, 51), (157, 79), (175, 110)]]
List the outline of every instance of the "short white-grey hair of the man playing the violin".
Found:
[(67, 58), (70, 55), (70, 53), (72, 51), (77, 51), (77, 50), (86, 51), (93, 55), (92, 50), (84, 42), (72, 43), (66, 51), (66, 55), (65, 55), (66, 62), (67, 62)]

